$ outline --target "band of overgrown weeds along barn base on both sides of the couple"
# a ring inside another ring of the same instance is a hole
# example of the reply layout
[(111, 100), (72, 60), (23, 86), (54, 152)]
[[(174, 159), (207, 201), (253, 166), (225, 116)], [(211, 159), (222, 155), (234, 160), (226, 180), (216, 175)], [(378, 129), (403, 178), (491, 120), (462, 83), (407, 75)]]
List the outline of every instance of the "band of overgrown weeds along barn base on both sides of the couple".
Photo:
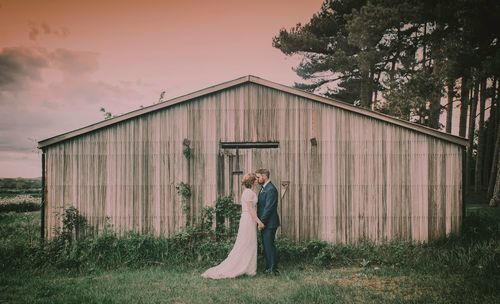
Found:
[[(76, 237), (75, 225), (83, 220), (77, 210), (69, 209), (65, 213), (63, 222), (66, 224), (62, 229), (62, 232), (68, 233), (60, 233), (45, 243), (38, 242), (39, 226), (34, 223), (35, 219), (39, 220), (37, 214), (0, 214), (0, 266), (16, 269), (34, 265), (91, 270), (148, 265), (215, 265), (226, 258), (235, 235), (216, 233), (212, 225), (208, 225), (212, 212), (207, 211), (205, 225), (187, 227), (168, 237), (135, 232), (119, 235), (111, 229), (104, 229), (99, 234), (81, 233)], [(332, 244), (278, 238), (278, 257), (280, 264), (292, 264), (294, 267), (357, 266), (369, 269), (379, 266), (423, 274), (442, 272), (494, 276), (500, 272), (498, 223), (484, 219), (482, 215), (478, 217), (465, 222), (461, 237), (450, 236), (423, 244), (405, 240), (382, 244), (369, 241)], [(92, 231), (91, 227), (89, 229)]]

